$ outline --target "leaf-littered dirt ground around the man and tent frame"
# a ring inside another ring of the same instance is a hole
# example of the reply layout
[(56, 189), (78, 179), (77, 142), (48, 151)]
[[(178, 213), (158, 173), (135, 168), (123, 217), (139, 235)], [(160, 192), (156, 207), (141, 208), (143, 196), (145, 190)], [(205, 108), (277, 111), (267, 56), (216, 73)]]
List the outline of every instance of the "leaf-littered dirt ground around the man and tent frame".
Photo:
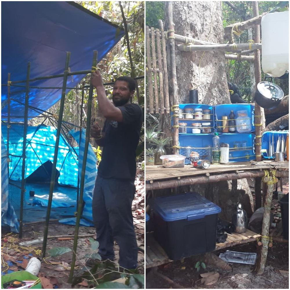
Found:
[[(144, 172), (137, 174), (137, 180), (135, 181), (136, 195), (132, 205), (133, 222), (135, 226), (135, 233), (137, 238), (137, 244), (140, 247), (138, 252), (138, 272), (144, 274)], [(49, 224), (48, 236), (56, 235), (73, 235), (75, 226), (61, 224), (59, 222), (53, 222)], [(5, 232), (1, 233), (2, 251), (1, 251), (1, 264), (2, 271), (7, 267), (8, 271), (19, 271), (25, 268), (25, 264), (31, 257), (37, 257), (41, 260), (41, 269), (39, 277), (46, 277), (54, 284), (55, 288), (59, 289), (79, 289), (88, 288), (82, 285), (75, 285), (74, 287), (68, 283), (68, 277), (70, 273), (70, 264), (72, 260), (72, 252), (62, 254), (54, 258), (41, 258), (41, 253), (37, 250), (41, 250), (42, 243), (35, 244), (31, 247), (19, 247), (19, 242), (35, 240), (43, 237), (44, 224), (27, 225), (23, 228), (23, 238), (18, 239), (18, 235), (7, 235)], [(79, 235), (92, 235), (95, 234), (93, 227), (79, 227)], [(95, 236), (93, 236), (95, 238)], [(73, 249), (73, 240), (59, 241), (57, 238), (49, 238), (46, 248), (46, 257), (49, 255), (47, 251), (54, 247), (69, 247)], [(143, 249), (143, 251), (141, 250)], [(115, 243), (115, 261), (119, 259), (119, 247)], [(77, 260), (75, 264), (75, 274), (81, 271), (87, 260), (86, 256), (91, 254), (90, 242), (87, 237), (78, 239), (77, 246)], [(6, 264), (3, 267), (3, 264)], [(8, 264), (8, 266), (7, 266)], [(7, 271), (6, 271), (7, 273)], [(43, 287), (44, 288), (44, 287)]]

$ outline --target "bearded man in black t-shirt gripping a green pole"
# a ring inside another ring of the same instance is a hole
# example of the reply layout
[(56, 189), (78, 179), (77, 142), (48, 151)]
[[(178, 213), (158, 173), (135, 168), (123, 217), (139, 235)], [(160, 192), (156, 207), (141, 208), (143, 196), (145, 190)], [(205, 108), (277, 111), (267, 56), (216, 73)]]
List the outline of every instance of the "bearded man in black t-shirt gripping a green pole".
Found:
[(135, 80), (119, 77), (113, 86), (113, 104), (106, 96), (101, 73), (91, 82), (97, 90), (98, 108), (106, 118), (103, 129), (95, 123), (90, 134), (103, 147), (93, 193), (93, 220), (102, 260), (114, 260), (114, 240), (119, 245), (119, 265), (137, 267), (137, 241), (133, 226), (136, 148), (143, 122), (142, 109), (131, 100)]

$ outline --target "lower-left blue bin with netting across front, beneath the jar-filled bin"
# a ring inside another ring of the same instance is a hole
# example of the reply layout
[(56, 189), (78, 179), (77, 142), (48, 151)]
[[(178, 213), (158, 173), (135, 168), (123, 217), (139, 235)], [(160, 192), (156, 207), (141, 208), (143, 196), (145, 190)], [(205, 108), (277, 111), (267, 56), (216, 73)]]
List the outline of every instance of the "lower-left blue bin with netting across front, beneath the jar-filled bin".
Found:
[[(179, 134), (179, 146), (181, 147), (179, 153), (188, 156), (188, 153), (194, 151), (200, 155), (200, 159), (209, 159), (213, 147), (213, 136), (213, 134)], [(208, 148), (208, 145), (211, 147)], [(185, 159), (185, 164), (190, 163), (190, 160)]]

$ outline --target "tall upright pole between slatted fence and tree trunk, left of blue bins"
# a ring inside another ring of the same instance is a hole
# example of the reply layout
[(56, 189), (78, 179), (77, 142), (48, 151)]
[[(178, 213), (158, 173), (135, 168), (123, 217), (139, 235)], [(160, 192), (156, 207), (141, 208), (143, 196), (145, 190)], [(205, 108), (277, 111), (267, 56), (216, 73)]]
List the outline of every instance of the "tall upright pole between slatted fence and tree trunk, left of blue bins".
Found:
[[(172, 98), (171, 104), (178, 104), (178, 86), (177, 86), (177, 77), (176, 77), (176, 62), (175, 62), (175, 40), (174, 40), (174, 23), (173, 23), (173, 14), (172, 14), (172, 1), (166, 2), (168, 21), (169, 21), (169, 30), (168, 33), (168, 43), (169, 43), (169, 54), (170, 54), (170, 63), (171, 63), (171, 82), (172, 82)], [(178, 154), (179, 149), (175, 146), (178, 146), (178, 118), (179, 118), (179, 109), (174, 106), (173, 115), (173, 133), (172, 133), (172, 147), (173, 154)]]

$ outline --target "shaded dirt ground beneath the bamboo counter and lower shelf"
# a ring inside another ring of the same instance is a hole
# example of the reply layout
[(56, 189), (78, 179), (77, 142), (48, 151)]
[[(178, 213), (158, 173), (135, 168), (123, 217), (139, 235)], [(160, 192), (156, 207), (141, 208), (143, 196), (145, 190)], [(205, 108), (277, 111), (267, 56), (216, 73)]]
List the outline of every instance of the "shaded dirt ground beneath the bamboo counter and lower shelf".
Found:
[[(216, 255), (227, 249), (215, 251)], [(231, 251), (257, 253), (255, 242), (228, 248)], [(202, 260), (202, 255), (174, 261), (158, 267), (158, 271), (186, 289), (289, 289), (289, 274), (283, 276), (279, 270), (289, 271), (289, 244), (274, 242), (269, 248), (267, 264), (263, 275), (254, 273), (254, 265), (231, 264), (232, 271), (223, 271), (207, 266), (198, 273), (195, 263)], [(200, 273), (216, 271), (220, 274), (214, 285), (201, 284)], [(170, 289), (171, 285), (154, 275), (152, 269), (146, 270), (146, 289)], [(172, 287), (174, 289), (174, 287)]]

